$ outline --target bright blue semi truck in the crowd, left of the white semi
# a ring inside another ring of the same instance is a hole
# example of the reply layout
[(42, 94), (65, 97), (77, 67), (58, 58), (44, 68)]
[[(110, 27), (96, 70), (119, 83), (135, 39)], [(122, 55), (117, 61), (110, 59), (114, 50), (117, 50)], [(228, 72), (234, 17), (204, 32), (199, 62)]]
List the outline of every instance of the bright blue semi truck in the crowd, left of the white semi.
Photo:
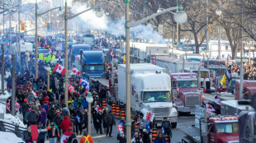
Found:
[(104, 76), (104, 54), (102, 50), (80, 51), (80, 70), (87, 79)]

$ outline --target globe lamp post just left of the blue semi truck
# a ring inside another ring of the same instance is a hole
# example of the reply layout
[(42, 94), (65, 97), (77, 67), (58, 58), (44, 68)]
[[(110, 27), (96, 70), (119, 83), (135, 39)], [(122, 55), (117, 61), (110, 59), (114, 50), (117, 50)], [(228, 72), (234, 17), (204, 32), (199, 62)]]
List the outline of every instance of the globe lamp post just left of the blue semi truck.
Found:
[(100, 8), (100, 6), (98, 7), (92, 7), (92, 8), (89, 8), (87, 10), (84, 10), (83, 12), (79, 12), (78, 14), (76, 15), (73, 15), (73, 16), (68, 16), (68, 3), (67, 3), (67, 0), (65, 0), (65, 14), (64, 14), (64, 23), (65, 23), (65, 104), (66, 106), (68, 107), (68, 94), (69, 94), (69, 89), (68, 89), (68, 84), (69, 84), (69, 77), (68, 77), (68, 62), (69, 62), (69, 59), (68, 59), (68, 20), (70, 19), (73, 19), (74, 17), (76, 16), (79, 16), (81, 14), (83, 14), (84, 12), (88, 12), (88, 11), (91, 11), (91, 10), (94, 10), (97, 8), (97, 11), (95, 12), (95, 15), (97, 17), (102, 17), (103, 16), (103, 12)]

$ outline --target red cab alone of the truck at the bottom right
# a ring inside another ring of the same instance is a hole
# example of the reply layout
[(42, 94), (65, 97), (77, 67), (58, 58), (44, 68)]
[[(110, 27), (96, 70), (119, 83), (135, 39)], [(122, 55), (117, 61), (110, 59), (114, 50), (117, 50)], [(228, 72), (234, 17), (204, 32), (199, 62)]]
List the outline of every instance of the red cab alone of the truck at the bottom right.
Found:
[(237, 117), (209, 118), (207, 127), (210, 143), (238, 143), (239, 125)]

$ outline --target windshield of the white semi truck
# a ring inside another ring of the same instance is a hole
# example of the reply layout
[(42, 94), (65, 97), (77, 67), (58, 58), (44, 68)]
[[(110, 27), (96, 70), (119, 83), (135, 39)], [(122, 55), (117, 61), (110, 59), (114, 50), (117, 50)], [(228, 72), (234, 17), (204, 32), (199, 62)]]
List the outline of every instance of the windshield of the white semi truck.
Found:
[(168, 91), (162, 92), (144, 92), (142, 100), (145, 103), (149, 102), (169, 102), (171, 101), (171, 96)]

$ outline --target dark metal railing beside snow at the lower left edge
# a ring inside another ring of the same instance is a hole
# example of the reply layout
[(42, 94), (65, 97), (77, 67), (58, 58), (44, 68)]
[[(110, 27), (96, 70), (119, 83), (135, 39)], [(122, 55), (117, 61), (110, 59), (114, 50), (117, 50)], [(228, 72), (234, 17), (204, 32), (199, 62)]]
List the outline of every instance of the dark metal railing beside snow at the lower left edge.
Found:
[(12, 132), (17, 135), (17, 137), (22, 136), (22, 131), (25, 131), (25, 127), (19, 127), (18, 125), (9, 123), (9, 122), (4, 122), (0, 121), (0, 131), (7, 131), (7, 132)]

